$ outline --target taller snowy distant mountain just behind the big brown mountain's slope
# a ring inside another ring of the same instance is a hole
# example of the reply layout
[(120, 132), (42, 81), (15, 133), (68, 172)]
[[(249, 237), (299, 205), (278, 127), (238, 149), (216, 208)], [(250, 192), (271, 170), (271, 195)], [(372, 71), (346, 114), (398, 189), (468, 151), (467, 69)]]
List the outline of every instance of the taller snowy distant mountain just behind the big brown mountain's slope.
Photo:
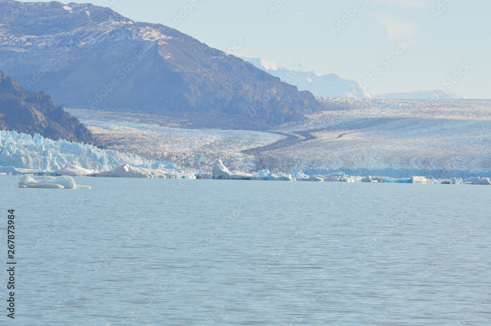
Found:
[(354, 80), (342, 78), (336, 74), (319, 75), (315, 71), (302, 72), (277, 65), (264, 59), (235, 55), (252, 63), (257, 68), (279, 77), (282, 81), (297, 86), (300, 91), (309, 91), (315, 96), (373, 98), (373, 94), (364, 85)]

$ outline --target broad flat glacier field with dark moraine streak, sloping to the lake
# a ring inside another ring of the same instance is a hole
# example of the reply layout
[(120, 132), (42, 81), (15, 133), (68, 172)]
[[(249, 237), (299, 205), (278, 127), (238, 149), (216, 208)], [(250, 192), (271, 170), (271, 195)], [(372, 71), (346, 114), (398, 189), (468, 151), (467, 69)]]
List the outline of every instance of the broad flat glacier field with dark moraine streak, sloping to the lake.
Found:
[[(264, 176), (289, 172), (301, 178), (302, 173), (342, 172), (372, 179), (381, 176), (379, 182), (387, 177), (491, 176), (489, 100), (322, 101), (326, 111), (266, 132), (182, 129), (158, 126), (147, 116), (68, 111), (113, 144), (112, 149), (208, 172), (220, 159), (232, 171), (259, 171)], [(145, 124), (149, 118), (153, 125)], [(327, 177), (336, 180), (351, 178)]]

